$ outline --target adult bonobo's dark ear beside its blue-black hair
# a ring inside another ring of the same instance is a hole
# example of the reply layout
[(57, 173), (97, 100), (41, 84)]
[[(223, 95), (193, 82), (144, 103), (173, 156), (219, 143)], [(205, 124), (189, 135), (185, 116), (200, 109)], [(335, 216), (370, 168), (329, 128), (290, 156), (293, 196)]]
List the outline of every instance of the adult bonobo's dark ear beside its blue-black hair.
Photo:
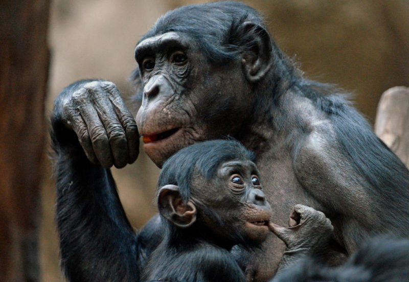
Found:
[(253, 22), (244, 22), (241, 26), (242, 66), (248, 81), (257, 82), (272, 66), (272, 44), (268, 32)]

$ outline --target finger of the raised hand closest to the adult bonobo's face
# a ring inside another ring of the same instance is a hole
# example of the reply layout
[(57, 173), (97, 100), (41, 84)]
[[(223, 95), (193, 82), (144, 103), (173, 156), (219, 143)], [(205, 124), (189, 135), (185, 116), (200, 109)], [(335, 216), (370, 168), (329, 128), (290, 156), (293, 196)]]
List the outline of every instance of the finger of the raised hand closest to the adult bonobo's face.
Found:
[(113, 83), (108, 84), (107, 86), (108, 89), (110, 89), (109, 100), (111, 101), (113, 110), (117, 114), (117, 117), (125, 130), (129, 154), (128, 163), (132, 163), (138, 158), (139, 154), (139, 132), (137, 123), (126, 107), (118, 88), (115, 87), (115, 85), (112, 87), (112, 85)]

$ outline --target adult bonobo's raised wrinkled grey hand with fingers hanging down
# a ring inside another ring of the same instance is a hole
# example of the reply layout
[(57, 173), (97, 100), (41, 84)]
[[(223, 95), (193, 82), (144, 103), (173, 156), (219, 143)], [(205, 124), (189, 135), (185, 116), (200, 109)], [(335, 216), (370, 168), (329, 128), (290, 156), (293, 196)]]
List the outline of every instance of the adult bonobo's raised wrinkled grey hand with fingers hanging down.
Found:
[(83, 80), (55, 101), (54, 122), (74, 130), (88, 159), (102, 167), (124, 167), (139, 153), (137, 124), (115, 84)]

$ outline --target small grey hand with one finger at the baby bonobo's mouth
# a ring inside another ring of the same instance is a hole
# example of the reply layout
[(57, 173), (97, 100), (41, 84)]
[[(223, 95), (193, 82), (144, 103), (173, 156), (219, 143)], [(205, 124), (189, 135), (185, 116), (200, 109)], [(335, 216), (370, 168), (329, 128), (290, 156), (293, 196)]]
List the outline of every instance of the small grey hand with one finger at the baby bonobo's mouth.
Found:
[(277, 272), (305, 255), (320, 251), (334, 230), (324, 213), (305, 205), (294, 206), (289, 225), (282, 227), (270, 222), (268, 226), (287, 246)]

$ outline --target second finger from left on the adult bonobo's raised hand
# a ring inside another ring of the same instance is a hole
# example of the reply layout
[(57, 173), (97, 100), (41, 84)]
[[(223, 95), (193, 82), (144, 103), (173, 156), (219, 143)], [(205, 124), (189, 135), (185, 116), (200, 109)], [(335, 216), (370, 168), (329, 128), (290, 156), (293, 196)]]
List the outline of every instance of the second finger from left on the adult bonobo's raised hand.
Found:
[[(76, 93), (74, 93), (75, 95)], [(74, 97), (73, 95), (73, 97)], [(78, 93), (80, 99), (76, 99), (76, 106), (79, 109), (82, 119), (84, 120), (89, 137), (92, 142), (94, 153), (104, 168), (109, 168), (113, 164), (113, 157), (108, 142), (108, 136), (105, 127), (102, 124), (97, 110), (94, 108), (86, 90)]]

